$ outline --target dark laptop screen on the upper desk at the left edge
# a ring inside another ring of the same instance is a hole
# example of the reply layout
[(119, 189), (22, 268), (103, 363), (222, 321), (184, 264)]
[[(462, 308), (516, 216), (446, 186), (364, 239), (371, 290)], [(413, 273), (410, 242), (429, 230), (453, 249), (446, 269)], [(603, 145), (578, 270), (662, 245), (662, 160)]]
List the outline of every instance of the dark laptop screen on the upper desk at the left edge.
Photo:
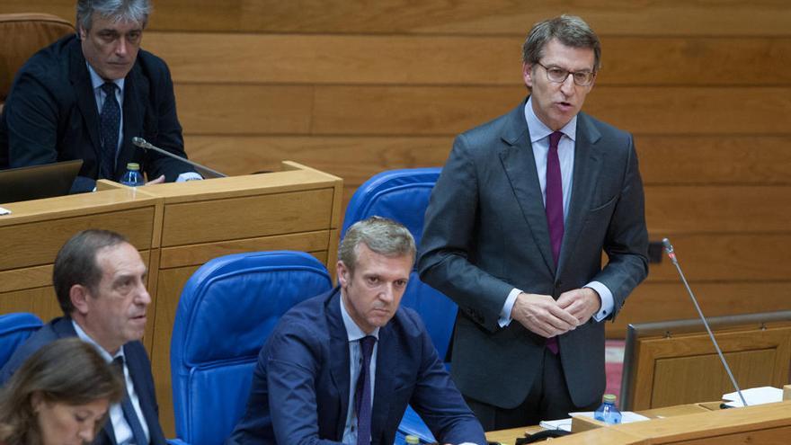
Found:
[(0, 204), (67, 195), (82, 159), (0, 170)]

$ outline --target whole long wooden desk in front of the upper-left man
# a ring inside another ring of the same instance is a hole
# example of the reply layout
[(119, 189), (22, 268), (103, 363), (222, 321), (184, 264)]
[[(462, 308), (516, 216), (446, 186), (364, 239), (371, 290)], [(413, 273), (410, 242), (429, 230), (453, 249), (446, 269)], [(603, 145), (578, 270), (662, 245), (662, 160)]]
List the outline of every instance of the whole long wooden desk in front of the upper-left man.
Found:
[[(105, 228), (129, 237), (148, 266), (152, 303), (143, 339), (165, 435), (174, 436), (170, 338), (184, 283), (224, 254), (289, 249), (333, 266), (341, 230), (342, 180), (305, 165), (282, 171), (137, 190), (100, 181), (98, 191), (4, 204), (0, 217), (0, 311), (62, 315), (52, 263), (70, 236)], [(328, 267), (333, 274), (334, 267)]]

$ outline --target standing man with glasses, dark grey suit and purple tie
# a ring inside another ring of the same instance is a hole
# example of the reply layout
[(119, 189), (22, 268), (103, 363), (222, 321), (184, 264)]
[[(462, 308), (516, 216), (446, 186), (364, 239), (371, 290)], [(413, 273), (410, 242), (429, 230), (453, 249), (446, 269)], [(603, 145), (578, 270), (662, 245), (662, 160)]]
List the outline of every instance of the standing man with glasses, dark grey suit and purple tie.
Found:
[(632, 136), (580, 111), (600, 53), (579, 17), (537, 23), (529, 97), (456, 138), (426, 211), (418, 269), (458, 303), (451, 370), (487, 431), (599, 405), (603, 323), (648, 272)]

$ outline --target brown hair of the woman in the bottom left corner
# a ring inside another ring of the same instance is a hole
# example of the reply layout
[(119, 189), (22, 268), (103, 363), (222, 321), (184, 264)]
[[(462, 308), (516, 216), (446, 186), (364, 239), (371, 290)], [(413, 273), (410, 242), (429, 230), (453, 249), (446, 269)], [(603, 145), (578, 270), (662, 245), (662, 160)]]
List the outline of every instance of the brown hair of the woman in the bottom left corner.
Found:
[[(0, 440), (6, 445), (40, 443), (32, 402), (35, 394), (48, 403), (86, 405), (102, 399), (118, 403), (124, 392), (120, 373), (93, 345), (77, 337), (46, 344), (22, 364), (0, 392)], [(96, 424), (94, 434), (102, 424)]]

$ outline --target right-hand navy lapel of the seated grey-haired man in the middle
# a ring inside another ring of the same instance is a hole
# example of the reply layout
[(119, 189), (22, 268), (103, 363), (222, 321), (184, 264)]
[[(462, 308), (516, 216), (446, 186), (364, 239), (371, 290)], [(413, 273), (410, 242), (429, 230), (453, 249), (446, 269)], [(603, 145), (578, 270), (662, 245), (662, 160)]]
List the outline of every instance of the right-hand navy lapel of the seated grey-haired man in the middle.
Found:
[(382, 437), (387, 417), (390, 415), (390, 397), (396, 390), (393, 379), (396, 359), (402, 356), (397, 351), (398, 344), (392, 333), (390, 323), (379, 329), (377, 345), (377, 379), (374, 386), (374, 403), (371, 407), (371, 438), (377, 441)]

